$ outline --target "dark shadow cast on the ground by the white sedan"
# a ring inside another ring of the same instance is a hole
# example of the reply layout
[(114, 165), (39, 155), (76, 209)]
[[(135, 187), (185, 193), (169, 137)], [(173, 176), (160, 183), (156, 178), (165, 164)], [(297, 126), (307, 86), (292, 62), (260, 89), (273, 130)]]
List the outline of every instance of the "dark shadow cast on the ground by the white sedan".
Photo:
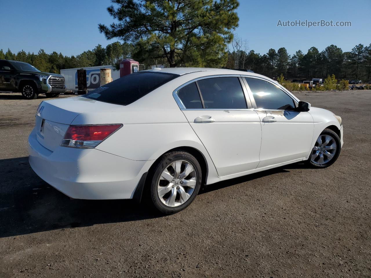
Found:
[[(219, 182), (200, 194), (282, 172), (289, 171), (276, 168)], [(162, 216), (132, 200), (70, 199), (42, 181), (28, 157), (0, 160), (0, 237)]]

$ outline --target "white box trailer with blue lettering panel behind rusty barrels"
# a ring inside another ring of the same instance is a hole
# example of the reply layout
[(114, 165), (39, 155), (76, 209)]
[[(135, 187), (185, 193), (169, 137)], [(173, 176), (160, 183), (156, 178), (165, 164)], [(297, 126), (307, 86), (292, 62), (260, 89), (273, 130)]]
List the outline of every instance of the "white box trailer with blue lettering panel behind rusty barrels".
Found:
[(93, 90), (101, 86), (101, 69), (111, 69), (112, 81), (120, 78), (120, 71), (114, 65), (96, 67), (77, 67), (76, 69), (62, 69), (60, 74), (65, 77), (66, 89), (77, 91), (77, 70), (86, 70), (86, 85), (88, 90)]

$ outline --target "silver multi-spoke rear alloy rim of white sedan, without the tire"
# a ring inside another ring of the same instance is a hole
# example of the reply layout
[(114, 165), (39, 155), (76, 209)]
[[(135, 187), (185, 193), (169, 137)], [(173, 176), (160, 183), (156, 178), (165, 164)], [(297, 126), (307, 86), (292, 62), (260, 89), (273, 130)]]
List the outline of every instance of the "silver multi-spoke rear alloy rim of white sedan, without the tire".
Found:
[(176, 160), (162, 171), (158, 179), (158, 197), (166, 206), (180, 206), (192, 196), (196, 181), (194, 166), (188, 161)]

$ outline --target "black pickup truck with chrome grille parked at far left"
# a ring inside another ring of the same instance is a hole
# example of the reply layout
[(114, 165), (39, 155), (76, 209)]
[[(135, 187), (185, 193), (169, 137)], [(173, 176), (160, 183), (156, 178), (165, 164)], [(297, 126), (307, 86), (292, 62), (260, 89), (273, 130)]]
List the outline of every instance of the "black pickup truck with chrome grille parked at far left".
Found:
[(0, 91), (20, 92), (26, 99), (36, 99), (39, 94), (58, 97), (66, 92), (65, 78), (40, 72), (27, 63), (0, 60)]

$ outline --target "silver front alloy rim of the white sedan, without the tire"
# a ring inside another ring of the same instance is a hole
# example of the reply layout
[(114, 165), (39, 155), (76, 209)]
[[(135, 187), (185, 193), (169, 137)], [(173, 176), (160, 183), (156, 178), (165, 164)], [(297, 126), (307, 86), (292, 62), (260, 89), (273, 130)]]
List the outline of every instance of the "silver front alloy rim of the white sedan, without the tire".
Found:
[(330, 135), (319, 135), (311, 155), (313, 163), (323, 165), (332, 160), (336, 153), (336, 141)]

